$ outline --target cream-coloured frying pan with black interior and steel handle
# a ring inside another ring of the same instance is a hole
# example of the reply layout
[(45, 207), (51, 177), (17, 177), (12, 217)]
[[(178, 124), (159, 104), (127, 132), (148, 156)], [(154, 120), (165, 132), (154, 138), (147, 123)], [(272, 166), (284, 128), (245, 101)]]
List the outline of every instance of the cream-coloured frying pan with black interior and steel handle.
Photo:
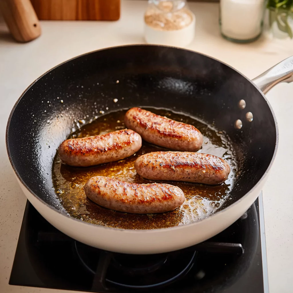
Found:
[[(133, 254), (192, 246), (226, 229), (258, 197), (278, 144), (277, 122), (264, 93), (292, 81), (292, 73), (293, 57), (252, 82), (218, 60), (174, 47), (132, 45), (87, 53), (51, 69), (18, 99), (6, 130), (8, 156), (32, 205), (80, 242)], [(84, 96), (77, 91), (80, 84), (86, 88)], [(119, 103), (113, 103), (115, 98)], [(242, 158), (232, 200), (210, 217), (165, 229), (115, 229), (70, 217), (54, 192), (52, 162), (59, 144), (76, 127), (73, 117), (89, 121), (97, 115), (96, 103), (107, 104), (109, 112), (134, 106), (176, 108), (226, 132)]]

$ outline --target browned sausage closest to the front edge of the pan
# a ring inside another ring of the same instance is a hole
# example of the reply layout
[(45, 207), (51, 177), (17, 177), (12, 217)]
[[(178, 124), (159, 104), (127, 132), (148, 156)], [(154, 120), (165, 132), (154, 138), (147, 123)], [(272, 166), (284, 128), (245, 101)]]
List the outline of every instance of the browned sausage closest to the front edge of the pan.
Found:
[(96, 176), (84, 186), (93, 202), (119, 212), (153, 214), (173, 211), (183, 204), (183, 191), (170, 184), (137, 184)]

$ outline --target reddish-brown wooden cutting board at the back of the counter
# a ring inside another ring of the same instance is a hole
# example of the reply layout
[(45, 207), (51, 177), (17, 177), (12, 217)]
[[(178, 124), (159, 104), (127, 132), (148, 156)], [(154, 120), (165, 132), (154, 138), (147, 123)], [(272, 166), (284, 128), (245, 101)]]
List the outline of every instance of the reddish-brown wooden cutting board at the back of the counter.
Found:
[[(0, 0), (1, 1), (1, 0)], [(118, 20), (120, 0), (31, 0), (42, 20)]]

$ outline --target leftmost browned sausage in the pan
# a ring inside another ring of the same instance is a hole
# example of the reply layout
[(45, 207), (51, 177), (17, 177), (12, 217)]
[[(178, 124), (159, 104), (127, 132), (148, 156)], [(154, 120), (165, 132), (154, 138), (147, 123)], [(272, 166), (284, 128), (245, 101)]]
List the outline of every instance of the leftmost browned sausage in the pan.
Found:
[(97, 136), (67, 139), (60, 144), (58, 152), (64, 163), (86, 167), (127, 158), (141, 146), (140, 135), (133, 130), (124, 129)]

